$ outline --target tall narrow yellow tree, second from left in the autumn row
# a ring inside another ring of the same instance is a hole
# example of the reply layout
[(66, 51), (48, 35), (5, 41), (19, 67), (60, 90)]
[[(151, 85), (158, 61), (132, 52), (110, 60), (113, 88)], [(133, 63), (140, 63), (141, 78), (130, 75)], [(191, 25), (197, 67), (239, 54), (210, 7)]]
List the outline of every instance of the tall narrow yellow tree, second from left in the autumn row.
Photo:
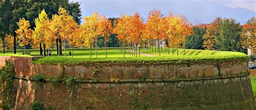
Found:
[[(49, 40), (49, 38), (46, 38), (46, 34), (50, 31), (50, 20), (44, 10), (42, 10), (41, 14), (39, 14), (38, 18), (35, 19), (36, 28), (33, 33), (33, 43), (37, 44), (39, 42), (39, 45), (43, 44), (44, 47), (44, 53), (45, 56), (45, 40)], [(42, 52), (42, 48), (40, 48), (40, 52)], [(41, 53), (40, 53), (41, 55)]]

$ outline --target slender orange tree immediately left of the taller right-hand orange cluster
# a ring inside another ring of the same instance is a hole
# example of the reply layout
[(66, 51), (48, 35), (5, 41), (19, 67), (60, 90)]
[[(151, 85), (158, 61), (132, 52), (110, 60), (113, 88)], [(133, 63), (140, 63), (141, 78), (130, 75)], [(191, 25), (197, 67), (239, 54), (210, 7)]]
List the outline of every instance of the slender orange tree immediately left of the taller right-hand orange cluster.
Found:
[(106, 19), (105, 16), (100, 19), (99, 22), (99, 35), (104, 37), (104, 44), (105, 44), (105, 56), (107, 57), (106, 52), (106, 41), (109, 40), (110, 33), (112, 31), (112, 24), (111, 20)]

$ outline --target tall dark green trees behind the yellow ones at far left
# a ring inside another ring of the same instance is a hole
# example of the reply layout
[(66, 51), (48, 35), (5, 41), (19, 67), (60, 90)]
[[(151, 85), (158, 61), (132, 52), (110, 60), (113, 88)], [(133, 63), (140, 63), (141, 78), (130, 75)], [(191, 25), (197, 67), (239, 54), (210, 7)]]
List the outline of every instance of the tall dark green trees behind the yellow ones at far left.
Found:
[[(77, 24), (80, 24), (81, 10), (78, 2), (69, 2), (68, 0), (4, 0), (0, 1), (0, 36), (2, 38), (3, 53), (5, 48), (14, 49), (16, 53), (16, 33), (18, 29), (17, 22), (19, 18), (25, 18), (30, 23), (31, 30), (36, 27), (35, 18), (41, 13), (42, 9), (48, 14), (49, 19), (53, 14), (57, 14), (59, 6), (67, 9), (69, 14), (73, 17)], [(14, 36), (13, 45), (7, 44), (8, 36)], [(7, 39), (6, 39), (7, 38)], [(12, 46), (12, 47), (11, 47)], [(18, 45), (19, 46), (19, 45)], [(42, 50), (42, 48), (41, 48)]]

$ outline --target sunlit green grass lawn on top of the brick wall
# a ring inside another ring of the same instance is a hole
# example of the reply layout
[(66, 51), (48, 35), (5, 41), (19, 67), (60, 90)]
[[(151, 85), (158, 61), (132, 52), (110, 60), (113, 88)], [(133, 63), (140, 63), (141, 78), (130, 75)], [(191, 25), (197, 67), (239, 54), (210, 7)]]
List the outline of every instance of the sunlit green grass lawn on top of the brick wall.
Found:
[[(74, 49), (73, 58), (69, 55), (71, 49), (66, 49), (66, 58), (63, 55), (58, 57), (56, 49), (52, 49), (52, 55), (50, 57), (46, 56), (44, 58), (39, 58), (38, 60), (33, 61), (33, 63), (37, 64), (83, 64), (85, 62), (216, 62), (219, 60), (248, 60), (248, 57), (244, 53), (239, 52), (219, 52), (219, 51), (210, 51), (210, 50), (193, 50), (186, 49), (186, 55), (183, 55), (182, 49), (179, 49), (179, 56), (177, 56), (177, 50), (174, 49), (174, 55), (172, 55), (172, 49), (170, 48), (170, 54), (168, 54), (168, 49), (166, 48), (166, 53), (164, 54), (164, 48), (162, 48), (161, 56), (158, 56), (158, 52), (152, 52), (146, 49), (141, 48), (141, 52), (146, 54), (155, 55), (153, 57), (147, 57), (144, 55), (140, 55), (140, 57), (134, 57), (129, 55), (129, 51), (126, 50), (125, 57), (123, 57), (123, 52), (118, 50), (117, 48), (109, 48), (107, 49), (107, 58), (105, 57), (104, 48), (98, 48), (97, 50), (97, 58), (95, 57), (95, 48), (92, 49), (92, 58), (90, 57), (90, 49)], [(0, 56), (29, 56), (29, 55), (21, 55), (23, 50), (17, 50), (17, 54), (10, 54), (8, 51), (7, 54), (0, 54)], [(26, 50), (26, 52), (30, 52), (31, 56), (39, 56), (39, 50)]]

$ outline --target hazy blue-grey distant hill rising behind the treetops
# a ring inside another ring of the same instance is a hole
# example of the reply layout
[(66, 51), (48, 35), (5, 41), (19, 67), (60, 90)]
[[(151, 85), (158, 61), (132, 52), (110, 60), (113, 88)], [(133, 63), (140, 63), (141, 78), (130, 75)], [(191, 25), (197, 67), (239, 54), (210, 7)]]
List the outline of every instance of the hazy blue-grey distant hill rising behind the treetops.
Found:
[[(77, 0), (79, 1), (79, 0)], [(80, 0), (82, 1), (82, 0)], [(169, 10), (174, 14), (184, 15), (195, 25), (198, 23), (211, 23), (216, 17), (235, 18), (241, 24), (256, 13), (245, 8), (230, 8), (210, 1), (85, 1), (82, 2), (83, 17), (89, 16), (93, 11), (105, 14), (106, 17), (119, 17), (123, 12), (132, 15), (138, 11), (144, 19), (150, 10), (160, 9), (165, 16)]]

